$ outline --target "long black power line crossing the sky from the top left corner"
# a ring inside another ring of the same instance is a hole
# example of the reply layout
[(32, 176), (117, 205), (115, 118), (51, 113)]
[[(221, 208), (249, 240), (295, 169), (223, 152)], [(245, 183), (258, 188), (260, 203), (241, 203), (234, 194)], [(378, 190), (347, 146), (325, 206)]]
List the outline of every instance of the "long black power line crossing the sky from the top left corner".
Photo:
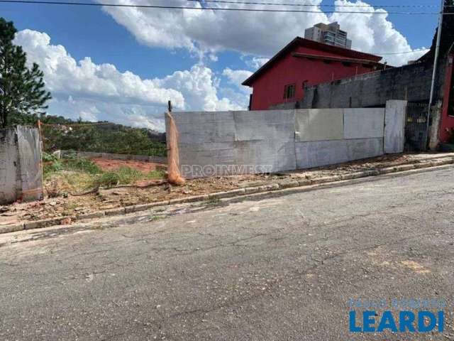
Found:
[[(37, 0), (0, 0), (6, 4), (41, 4), (41, 5), (66, 5), (66, 6), (98, 6), (98, 7), (123, 7), (142, 9), (193, 9), (209, 11), (247, 11), (247, 12), (273, 12), (273, 13), (357, 13), (357, 14), (405, 14), (405, 15), (439, 15), (438, 12), (376, 12), (376, 11), (308, 11), (302, 9), (244, 9), (224, 7), (191, 7), (191, 6), (160, 6), (160, 5), (132, 5), (132, 4), (104, 4), (93, 2), (70, 2), (70, 1), (37, 1)], [(445, 13), (454, 14), (454, 13)]]

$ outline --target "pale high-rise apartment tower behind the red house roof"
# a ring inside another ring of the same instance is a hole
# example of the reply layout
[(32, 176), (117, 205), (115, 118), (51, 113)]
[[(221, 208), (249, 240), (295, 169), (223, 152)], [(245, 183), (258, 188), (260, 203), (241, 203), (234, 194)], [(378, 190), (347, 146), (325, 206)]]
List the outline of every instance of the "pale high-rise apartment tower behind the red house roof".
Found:
[(338, 46), (340, 48), (352, 48), (352, 40), (347, 39), (347, 32), (341, 30), (341, 26), (334, 23), (317, 23), (304, 32), (304, 38)]

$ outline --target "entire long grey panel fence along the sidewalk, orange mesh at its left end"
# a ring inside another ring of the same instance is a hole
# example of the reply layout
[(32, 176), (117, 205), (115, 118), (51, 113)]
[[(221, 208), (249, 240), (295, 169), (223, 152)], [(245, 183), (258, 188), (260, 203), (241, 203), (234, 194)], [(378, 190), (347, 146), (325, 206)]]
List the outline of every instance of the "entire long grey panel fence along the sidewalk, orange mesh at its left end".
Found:
[[(405, 107), (404, 101), (389, 103), (388, 121), (404, 121)], [(384, 108), (172, 115), (186, 178), (326, 166), (380, 156), (384, 139), (393, 153), (402, 152), (404, 144), (404, 126), (385, 126)]]

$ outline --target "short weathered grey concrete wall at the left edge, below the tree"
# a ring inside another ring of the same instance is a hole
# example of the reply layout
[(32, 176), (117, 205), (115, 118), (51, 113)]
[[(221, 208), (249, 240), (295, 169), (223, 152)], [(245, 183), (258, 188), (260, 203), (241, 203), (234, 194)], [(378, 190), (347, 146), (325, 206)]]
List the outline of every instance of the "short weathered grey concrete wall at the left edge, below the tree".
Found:
[(0, 129), (0, 205), (43, 197), (38, 129)]

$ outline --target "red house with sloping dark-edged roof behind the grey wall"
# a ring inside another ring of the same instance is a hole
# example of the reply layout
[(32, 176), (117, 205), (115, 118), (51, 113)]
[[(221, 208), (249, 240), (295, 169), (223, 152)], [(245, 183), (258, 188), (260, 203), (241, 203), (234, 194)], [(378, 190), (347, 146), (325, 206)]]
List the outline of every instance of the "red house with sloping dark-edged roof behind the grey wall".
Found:
[(265, 65), (243, 82), (253, 88), (250, 110), (267, 110), (276, 104), (297, 102), (304, 85), (382, 70), (382, 57), (304, 38), (294, 38)]

